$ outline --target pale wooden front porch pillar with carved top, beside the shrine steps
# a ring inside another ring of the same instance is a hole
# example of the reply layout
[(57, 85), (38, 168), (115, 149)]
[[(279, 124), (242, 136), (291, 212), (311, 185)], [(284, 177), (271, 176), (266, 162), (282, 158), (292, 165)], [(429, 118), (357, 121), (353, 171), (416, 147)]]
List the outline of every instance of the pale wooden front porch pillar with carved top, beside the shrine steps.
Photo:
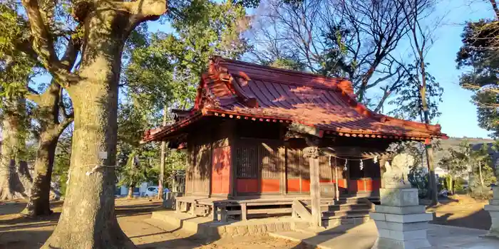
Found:
[(319, 148), (307, 147), (304, 157), (309, 158), (310, 167), (310, 198), (312, 202), (312, 227), (319, 227), (321, 223), (321, 189), (319, 186)]

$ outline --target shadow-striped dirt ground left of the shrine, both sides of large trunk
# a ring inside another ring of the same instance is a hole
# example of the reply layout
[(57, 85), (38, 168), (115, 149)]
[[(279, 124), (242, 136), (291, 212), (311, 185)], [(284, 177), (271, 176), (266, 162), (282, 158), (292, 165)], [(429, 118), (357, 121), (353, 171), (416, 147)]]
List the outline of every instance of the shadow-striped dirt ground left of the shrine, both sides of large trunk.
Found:
[[(62, 202), (52, 203), (55, 213), (48, 218), (19, 216), (17, 213), (24, 206), (24, 201), (0, 203), (0, 249), (40, 248), (56, 226)], [(302, 248), (298, 243), (270, 237), (246, 236), (210, 241), (175, 228), (165, 231), (144, 221), (156, 208), (160, 208), (160, 202), (147, 198), (116, 200), (120, 227), (139, 248)]]

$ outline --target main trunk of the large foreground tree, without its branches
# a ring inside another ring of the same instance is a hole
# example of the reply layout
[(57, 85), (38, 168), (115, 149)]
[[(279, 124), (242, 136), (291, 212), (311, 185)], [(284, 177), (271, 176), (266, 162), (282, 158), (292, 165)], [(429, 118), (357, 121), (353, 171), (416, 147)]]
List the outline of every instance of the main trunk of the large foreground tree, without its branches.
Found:
[(135, 248), (114, 212), (118, 82), (129, 16), (106, 8), (88, 15), (80, 80), (68, 88), (70, 180), (61, 218), (43, 248)]

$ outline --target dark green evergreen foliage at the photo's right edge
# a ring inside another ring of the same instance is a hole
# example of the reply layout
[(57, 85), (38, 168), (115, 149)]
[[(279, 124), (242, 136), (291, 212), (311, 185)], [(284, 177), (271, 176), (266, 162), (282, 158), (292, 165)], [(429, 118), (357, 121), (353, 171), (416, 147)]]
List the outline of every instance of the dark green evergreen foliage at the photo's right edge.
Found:
[[(499, 51), (496, 39), (499, 22), (480, 20), (466, 24), (462, 33), (463, 46), (456, 58), (461, 75), (461, 87), (473, 90), (473, 102), (478, 107), (478, 125), (499, 136), (499, 97), (494, 90), (499, 85)], [(488, 89), (492, 90), (488, 90)]]

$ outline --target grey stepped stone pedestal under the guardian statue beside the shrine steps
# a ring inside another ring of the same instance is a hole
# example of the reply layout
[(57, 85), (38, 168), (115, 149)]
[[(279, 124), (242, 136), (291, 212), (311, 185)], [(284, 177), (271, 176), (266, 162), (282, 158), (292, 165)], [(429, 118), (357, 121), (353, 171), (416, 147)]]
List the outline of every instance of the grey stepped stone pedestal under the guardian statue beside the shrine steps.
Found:
[(419, 206), (418, 189), (381, 189), (381, 205), (370, 213), (379, 237), (372, 248), (416, 249), (431, 247), (426, 238), (433, 213)]

